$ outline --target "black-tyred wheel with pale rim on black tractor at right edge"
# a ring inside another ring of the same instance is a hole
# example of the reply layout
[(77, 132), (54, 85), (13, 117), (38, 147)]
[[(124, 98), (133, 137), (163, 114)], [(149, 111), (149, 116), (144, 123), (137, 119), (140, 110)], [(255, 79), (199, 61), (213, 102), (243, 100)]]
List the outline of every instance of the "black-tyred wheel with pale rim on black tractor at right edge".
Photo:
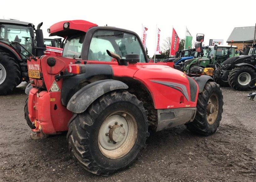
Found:
[(256, 78), (256, 72), (251, 67), (236, 67), (228, 76), (228, 82), (232, 88), (240, 91), (250, 90), (249, 83)]

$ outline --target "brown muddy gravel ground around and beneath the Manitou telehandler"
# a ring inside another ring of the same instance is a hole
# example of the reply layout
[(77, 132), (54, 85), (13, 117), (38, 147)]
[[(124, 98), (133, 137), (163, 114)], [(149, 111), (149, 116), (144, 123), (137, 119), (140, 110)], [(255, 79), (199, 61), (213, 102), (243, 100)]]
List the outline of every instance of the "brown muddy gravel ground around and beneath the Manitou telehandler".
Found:
[(110, 177), (96, 176), (70, 156), (65, 134), (31, 140), (23, 88), (0, 96), (0, 181), (256, 181), (256, 101), (222, 88), (217, 132), (200, 136), (185, 126), (157, 132), (142, 156)]

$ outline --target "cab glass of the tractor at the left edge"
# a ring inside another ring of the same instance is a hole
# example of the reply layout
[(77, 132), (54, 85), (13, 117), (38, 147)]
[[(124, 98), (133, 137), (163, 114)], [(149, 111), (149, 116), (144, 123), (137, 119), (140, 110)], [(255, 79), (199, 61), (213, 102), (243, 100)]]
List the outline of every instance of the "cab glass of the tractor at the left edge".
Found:
[[(0, 27), (0, 40), (11, 43), (17, 41), (23, 45), (28, 51), (32, 52), (32, 41), (28, 26), (12, 25), (12, 24), (1, 24)], [(28, 56), (28, 52), (25, 51), (20, 45), (14, 45), (16, 50), (25, 56)]]

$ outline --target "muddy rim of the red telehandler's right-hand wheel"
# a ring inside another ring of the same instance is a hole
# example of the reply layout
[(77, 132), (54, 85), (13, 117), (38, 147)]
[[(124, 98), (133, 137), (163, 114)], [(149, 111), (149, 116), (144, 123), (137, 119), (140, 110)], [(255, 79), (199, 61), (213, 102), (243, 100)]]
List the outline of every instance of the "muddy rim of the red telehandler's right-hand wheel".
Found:
[(219, 102), (218, 102), (217, 95), (212, 95), (208, 101), (207, 107), (206, 107), (206, 119), (207, 122), (212, 125), (215, 120), (217, 119), (218, 110), (219, 110)]

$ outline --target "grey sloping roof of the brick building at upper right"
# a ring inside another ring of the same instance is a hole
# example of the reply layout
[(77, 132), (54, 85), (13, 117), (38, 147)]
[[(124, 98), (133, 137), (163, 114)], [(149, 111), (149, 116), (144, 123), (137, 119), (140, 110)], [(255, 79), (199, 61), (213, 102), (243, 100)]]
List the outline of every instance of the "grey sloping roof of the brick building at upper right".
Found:
[(254, 37), (255, 27), (235, 27), (229, 35), (227, 42), (251, 42)]

